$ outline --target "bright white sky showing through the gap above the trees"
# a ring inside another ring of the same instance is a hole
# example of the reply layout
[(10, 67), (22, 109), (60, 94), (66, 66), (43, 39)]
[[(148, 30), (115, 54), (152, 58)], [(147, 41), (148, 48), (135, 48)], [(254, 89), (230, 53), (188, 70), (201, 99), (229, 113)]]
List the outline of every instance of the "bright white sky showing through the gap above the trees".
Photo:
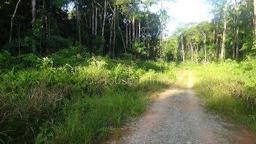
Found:
[[(165, 33), (170, 36), (179, 23), (200, 23), (203, 20), (211, 20), (211, 5), (205, 0), (176, 0), (175, 2), (163, 1), (163, 7), (171, 18), (167, 23)], [(150, 8), (151, 12), (159, 12), (160, 3)]]

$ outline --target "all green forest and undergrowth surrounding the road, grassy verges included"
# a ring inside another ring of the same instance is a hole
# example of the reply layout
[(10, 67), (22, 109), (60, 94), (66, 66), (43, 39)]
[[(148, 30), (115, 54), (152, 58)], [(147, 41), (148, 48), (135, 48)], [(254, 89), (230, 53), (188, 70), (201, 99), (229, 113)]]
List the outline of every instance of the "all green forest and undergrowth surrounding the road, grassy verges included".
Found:
[(206, 0), (212, 20), (173, 34), (164, 2), (1, 0), (0, 143), (118, 138), (187, 70), (207, 111), (256, 132), (256, 1)]

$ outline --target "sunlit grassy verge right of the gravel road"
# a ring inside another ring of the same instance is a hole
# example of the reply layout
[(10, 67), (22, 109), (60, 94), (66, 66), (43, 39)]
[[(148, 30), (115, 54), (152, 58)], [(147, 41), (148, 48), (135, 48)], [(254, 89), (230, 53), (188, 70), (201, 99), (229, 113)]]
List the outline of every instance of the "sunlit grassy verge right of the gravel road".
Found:
[(256, 131), (256, 61), (197, 67), (196, 92), (207, 109)]

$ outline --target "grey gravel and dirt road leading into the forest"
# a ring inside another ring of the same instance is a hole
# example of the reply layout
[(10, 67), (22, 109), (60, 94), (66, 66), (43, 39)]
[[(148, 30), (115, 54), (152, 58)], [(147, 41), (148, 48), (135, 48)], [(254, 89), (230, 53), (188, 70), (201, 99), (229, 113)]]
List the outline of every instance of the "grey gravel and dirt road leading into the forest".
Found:
[[(178, 83), (159, 94), (137, 122), (128, 124), (128, 134), (112, 143), (254, 143), (240, 129), (216, 115), (206, 113), (192, 90), (192, 72), (184, 72)], [(238, 140), (238, 137), (242, 137)], [(247, 140), (247, 141), (246, 141)]]

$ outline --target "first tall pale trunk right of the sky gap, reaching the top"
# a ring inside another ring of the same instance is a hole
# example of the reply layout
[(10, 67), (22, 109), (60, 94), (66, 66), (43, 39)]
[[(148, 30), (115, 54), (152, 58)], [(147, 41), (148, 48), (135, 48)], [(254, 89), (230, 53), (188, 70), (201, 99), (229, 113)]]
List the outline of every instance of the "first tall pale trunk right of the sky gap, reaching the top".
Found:
[(227, 0), (225, 1), (225, 7), (224, 7), (224, 25), (223, 25), (223, 35), (222, 35), (222, 49), (220, 53), (220, 58), (222, 58), (222, 61), (225, 58), (225, 40), (226, 40), (226, 31), (227, 31)]

